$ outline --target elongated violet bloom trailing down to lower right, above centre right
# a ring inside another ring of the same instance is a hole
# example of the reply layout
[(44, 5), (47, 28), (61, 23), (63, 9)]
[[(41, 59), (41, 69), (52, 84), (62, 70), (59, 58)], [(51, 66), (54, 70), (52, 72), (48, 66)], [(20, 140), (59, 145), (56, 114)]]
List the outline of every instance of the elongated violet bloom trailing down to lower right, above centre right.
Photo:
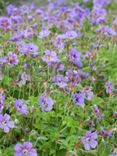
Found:
[(70, 61), (76, 65), (77, 67), (81, 68), (82, 67), (82, 62), (81, 62), (81, 59), (80, 59), (80, 52), (77, 51), (76, 49), (72, 49), (70, 52), (69, 52), (69, 58), (70, 58)]

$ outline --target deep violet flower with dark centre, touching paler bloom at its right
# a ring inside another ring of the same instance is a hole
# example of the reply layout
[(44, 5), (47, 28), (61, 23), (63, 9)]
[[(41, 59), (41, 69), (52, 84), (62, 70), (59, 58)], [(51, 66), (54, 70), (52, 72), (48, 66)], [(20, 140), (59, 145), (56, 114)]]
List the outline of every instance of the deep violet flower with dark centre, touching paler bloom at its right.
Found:
[(84, 95), (82, 93), (75, 93), (73, 95), (73, 101), (76, 105), (82, 106), (84, 104)]

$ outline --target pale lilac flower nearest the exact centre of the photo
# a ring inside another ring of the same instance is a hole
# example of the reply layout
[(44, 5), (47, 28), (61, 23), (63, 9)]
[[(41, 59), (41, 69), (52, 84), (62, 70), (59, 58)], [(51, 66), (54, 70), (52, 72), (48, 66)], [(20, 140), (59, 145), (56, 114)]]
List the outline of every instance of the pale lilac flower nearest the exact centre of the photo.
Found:
[(60, 88), (65, 88), (67, 86), (66, 80), (63, 75), (57, 75), (54, 77), (55, 84)]

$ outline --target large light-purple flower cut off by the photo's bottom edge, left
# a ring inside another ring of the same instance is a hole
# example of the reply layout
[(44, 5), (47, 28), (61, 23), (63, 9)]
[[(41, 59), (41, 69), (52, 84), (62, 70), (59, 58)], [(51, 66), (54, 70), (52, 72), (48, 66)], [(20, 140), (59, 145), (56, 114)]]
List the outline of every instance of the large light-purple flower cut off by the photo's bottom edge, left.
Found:
[(31, 142), (17, 143), (14, 156), (37, 156), (37, 151)]

